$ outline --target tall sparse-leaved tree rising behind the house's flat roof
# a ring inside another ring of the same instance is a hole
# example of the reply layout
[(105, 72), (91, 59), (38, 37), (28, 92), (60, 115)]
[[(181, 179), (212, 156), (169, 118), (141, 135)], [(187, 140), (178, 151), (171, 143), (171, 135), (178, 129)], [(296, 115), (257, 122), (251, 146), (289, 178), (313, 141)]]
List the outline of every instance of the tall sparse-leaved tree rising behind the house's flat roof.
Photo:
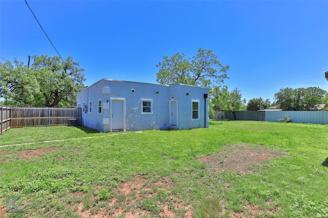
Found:
[(186, 58), (184, 53), (163, 58), (156, 65), (159, 67), (156, 81), (160, 84), (183, 83), (211, 87), (228, 79), (229, 65), (223, 66), (211, 50), (199, 49), (192, 58)]

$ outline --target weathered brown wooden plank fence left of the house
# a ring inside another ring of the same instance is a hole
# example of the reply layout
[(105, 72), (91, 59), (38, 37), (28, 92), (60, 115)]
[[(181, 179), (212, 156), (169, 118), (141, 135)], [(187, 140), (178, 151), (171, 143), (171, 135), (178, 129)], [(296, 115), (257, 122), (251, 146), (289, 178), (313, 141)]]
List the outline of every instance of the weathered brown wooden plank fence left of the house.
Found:
[(81, 108), (8, 107), (0, 105), (1, 133), (9, 128), (68, 125), (69, 119), (81, 124)]

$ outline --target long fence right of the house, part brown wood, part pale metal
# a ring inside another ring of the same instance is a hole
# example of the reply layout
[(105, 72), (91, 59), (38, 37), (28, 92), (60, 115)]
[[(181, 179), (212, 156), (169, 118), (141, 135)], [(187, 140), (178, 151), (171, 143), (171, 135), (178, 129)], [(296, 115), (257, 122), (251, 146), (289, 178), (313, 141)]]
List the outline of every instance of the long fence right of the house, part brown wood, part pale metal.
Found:
[(328, 111), (215, 111), (213, 118), (278, 122), (284, 115), (293, 123), (328, 124)]

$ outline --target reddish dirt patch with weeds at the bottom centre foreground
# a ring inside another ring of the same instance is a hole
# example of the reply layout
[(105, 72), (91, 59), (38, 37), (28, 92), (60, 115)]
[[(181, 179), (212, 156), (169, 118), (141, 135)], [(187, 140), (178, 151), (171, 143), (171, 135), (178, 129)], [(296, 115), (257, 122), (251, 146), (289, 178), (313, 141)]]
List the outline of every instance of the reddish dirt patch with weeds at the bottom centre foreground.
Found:
[[(111, 197), (98, 201), (103, 206), (96, 210), (97, 205), (86, 209), (84, 202), (70, 205), (70, 209), (80, 217), (192, 217), (192, 206), (185, 205), (177, 199), (171, 189), (174, 182), (170, 178), (159, 178), (153, 181), (139, 175), (132, 180), (123, 182), (111, 189)], [(100, 189), (99, 189), (100, 190)], [(81, 193), (72, 193), (81, 197)], [(98, 198), (93, 196), (93, 198)], [(74, 211), (75, 209), (75, 211)]]

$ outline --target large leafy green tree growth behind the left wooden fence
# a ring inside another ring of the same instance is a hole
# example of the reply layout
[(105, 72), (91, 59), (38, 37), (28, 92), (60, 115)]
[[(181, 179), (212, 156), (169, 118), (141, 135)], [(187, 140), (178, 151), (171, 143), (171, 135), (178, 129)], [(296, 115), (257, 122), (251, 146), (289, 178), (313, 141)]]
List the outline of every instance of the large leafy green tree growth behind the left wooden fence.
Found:
[(84, 88), (83, 71), (72, 57), (33, 56), (31, 68), (15, 59), (1, 63), (0, 97), (17, 106), (68, 107), (76, 104), (76, 93)]

